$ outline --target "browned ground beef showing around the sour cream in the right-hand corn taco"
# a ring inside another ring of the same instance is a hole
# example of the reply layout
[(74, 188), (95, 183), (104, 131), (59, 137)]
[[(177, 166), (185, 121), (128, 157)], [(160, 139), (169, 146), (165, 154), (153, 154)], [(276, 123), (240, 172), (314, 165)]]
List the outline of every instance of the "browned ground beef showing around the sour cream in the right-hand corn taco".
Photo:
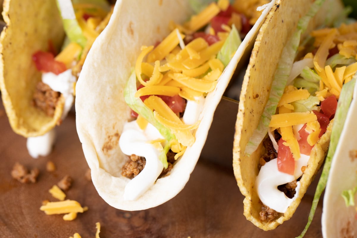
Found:
[[(275, 134), (275, 139), (278, 141), (280, 139), (280, 135)], [(263, 141), (263, 146), (266, 150), (266, 152), (262, 155), (262, 157), (259, 160), (258, 164), (258, 169), (266, 163), (271, 161), (272, 159), (277, 158), (278, 154), (274, 150), (273, 143), (271, 142), (270, 138), (267, 137)], [(290, 183), (282, 184), (278, 186), (278, 189), (285, 193), (285, 195), (288, 198), (293, 198), (296, 194), (296, 186), (297, 186), (297, 180), (292, 181)], [(262, 204), (261, 212), (259, 213), (259, 218), (261, 221), (273, 221), (275, 220), (278, 216), (280, 216), (280, 213), (275, 211), (274, 209), (271, 209), (270, 207)]]

